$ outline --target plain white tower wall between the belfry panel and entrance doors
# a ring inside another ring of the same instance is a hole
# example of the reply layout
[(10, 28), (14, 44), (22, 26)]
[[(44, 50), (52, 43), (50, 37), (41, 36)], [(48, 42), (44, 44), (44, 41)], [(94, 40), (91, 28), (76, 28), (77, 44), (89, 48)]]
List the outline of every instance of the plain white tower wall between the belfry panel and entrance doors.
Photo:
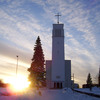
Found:
[[(52, 53), (52, 80), (64, 81), (65, 62), (64, 62), (64, 38), (57, 37), (53, 40)], [(59, 78), (57, 78), (59, 77)]]

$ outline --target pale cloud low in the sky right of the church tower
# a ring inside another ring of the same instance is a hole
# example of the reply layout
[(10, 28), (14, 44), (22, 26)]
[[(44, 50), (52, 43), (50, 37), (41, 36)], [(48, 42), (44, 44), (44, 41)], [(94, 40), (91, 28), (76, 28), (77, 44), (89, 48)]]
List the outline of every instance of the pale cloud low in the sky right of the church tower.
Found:
[(98, 67), (99, 65), (96, 60), (97, 55), (94, 55), (91, 51), (84, 48), (72, 35), (67, 35), (66, 39), (69, 37), (69, 41), (65, 44), (66, 59), (71, 59), (71, 69), (72, 74), (75, 74), (75, 82), (82, 85), (86, 83), (86, 77), (89, 72), (91, 72), (92, 77), (98, 72), (98, 69), (95, 68), (95, 66)]

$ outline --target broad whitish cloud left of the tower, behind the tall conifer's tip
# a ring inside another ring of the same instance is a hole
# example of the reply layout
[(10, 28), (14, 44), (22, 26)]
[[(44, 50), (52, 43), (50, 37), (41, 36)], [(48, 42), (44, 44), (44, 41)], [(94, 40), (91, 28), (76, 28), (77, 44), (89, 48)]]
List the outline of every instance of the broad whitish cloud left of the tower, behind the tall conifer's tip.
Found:
[[(2, 20), (2, 23), (0, 23), (0, 33), (2, 37), (7, 39), (8, 41), (13, 42), (13, 44), (19, 46), (19, 48), (21, 47), (23, 49), (32, 50), (35, 44), (36, 37), (39, 35), (42, 40), (42, 44), (48, 44), (48, 49), (51, 47), (51, 35), (49, 35), (51, 33), (50, 29), (46, 28), (43, 25), (40, 25), (38, 19), (36, 19), (34, 15), (32, 15), (31, 13), (29, 14), (28, 11), (24, 11), (24, 9), (20, 11), (20, 8), (17, 8), (17, 10), (12, 10), (10, 7), (8, 7), (7, 11), (5, 9), (1, 9), (1, 11), (1, 18), (4, 18)], [(12, 15), (14, 11), (15, 14)], [(17, 15), (16, 12), (18, 13), (18, 11), (19, 13), (23, 13), (24, 17), (20, 17), (19, 15)], [(28, 20), (26, 20), (25, 17)], [(49, 34), (47, 35), (47, 33)], [(47, 51), (47, 48), (45, 50)], [(48, 57), (48, 54), (49, 53), (46, 53), (46, 58), (50, 59)]]

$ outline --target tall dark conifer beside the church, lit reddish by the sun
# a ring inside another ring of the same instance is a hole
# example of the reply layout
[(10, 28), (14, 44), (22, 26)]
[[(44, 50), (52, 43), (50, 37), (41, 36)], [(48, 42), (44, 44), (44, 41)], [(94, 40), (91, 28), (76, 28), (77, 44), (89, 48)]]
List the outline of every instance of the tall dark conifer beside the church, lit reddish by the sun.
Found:
[(38, 36), (35, 47), (34, 47), (34, 55), (33, 58), (31, 59), (31, 67), (28, 69), (30, 72), (29, 75), (29, 81), (31, 81), (31, 86), (37, 85), (44, 83), (45, 78), (45, 69), (44, 69), (44, 54), (43, 54), (43, 49), (41, 46), (41, 40)]

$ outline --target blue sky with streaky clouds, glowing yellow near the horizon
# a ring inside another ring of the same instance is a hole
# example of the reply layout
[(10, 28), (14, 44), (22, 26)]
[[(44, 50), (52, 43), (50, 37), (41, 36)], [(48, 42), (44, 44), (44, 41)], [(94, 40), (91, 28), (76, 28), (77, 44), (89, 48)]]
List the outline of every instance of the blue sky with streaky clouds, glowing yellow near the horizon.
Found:
[[(0, 0), (0, 79), (28, 77), (34, 45), (40, 36), (45, 60), (52, 59), (52, 24), (61, 14), (65, 59), (75, 82), (94, 81), (100, 65), (100, 0)], [(95, 82), (95, 81), (94, 81)]]

